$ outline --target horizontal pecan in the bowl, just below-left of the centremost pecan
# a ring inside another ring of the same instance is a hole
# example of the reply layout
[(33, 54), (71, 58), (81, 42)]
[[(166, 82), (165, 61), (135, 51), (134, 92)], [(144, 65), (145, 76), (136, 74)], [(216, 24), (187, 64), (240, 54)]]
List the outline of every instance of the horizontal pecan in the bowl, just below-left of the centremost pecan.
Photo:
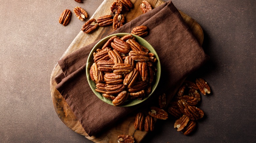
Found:
[(117, 75), (115, 73), (106, 73), (104, 75), (104, 81), (106, 84), (109, 84), (109, 85), (117, 85), (117, 84), (120, 84), (123, 82), (123, 79), (122, 79), (122, 75)]

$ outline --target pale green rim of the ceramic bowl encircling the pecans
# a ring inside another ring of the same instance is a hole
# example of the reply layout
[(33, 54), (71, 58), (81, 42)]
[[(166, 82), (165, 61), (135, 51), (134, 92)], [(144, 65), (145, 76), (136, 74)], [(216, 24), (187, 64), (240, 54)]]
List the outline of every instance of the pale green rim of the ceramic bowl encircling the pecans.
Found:
[[(115, 106), (115, 105), (114, 105), (112, 102), (111, 102), (111, 103), (110, 103), (110, 102), (107, 102), (107, 101), (111, 101), (111, 100), (106, 99), (105, 97), (102, 96), (102, 93), (99, 93), (99, 92), (97, 92), (97, 91), (94, 89), (95, 87), (93, 86), (93, 84), (95, 84), (95, 82), (92, 81), (92, 79), (91, 79), (91, 77), (90, 77), (90, 68), (91, 68), (91, 65), (94, 63), (94, 61), (93, 61), (93, 62), (89, 62), (89, 60), (90, 60), (90, 58), (93, 57), (93, 53), (96, 52), (96, 49), (98, 49), (99, 46), (103, 46), (103, 44), (101, 43), (102, 41), (104, 41), (104, 40), (107, 41), (107, 40), (110, 39), (112, 36), (117, 36), (117, 37), (118, 37), (118, 36), (119, 36), (119, 37), (121, 36), (121, 37), (122, 37), (122, 36), (128, 35), (128, 34), (130, 34), (130, 33), (116, 33), (116, 34), (109, 35), (109, 36), (107, 36), (107, 37), (105, 37), (105, 38), (99, 40), (99, 41), (94, 45), (94, 47), (92, 48), (90, 54), (88, 55), (87, 61), (86, 61), (86, 76), (87, 76), (87, 82), (88, 82), (88, 84), (90, 85), (91, 90), (94, 92), (94, 94), (95, 94), (100, 100), (102, 100), (103, 102), (108, 103), (108, 104), (110, 104), (110, 105), (113, 105), (113, 106)], [(158, 87), (158, 84), (159, 84), (159, 81), (160, 81), (160, 77), (161, 77), (161, 64), (160, 64), (159, 56), (158, 56), (156, 50), (154, 49), (154, 47), (153, 47), (147, 40), (145, 40), (145, 39), (143, 39), (143, 38), (141, 38), (141, 37), (139, 37), (139, 36), (137, 36), (137, 35), (134, 35), (134, 34), (131, 34), (131, 35), (133, 35), (136, 39), (140, 39), (140, 40), (143, 41), (143, 43), (137, 41), (137, 42), (139, 42), (139, 44), (141, 44), (141, 45), (147, 44), (147, 45), (149, 45), (149, 47), (152, 49), (152, 50), (149, 50), (149, 51), (150, 51), (151, 53), (154, 53), (155, 57), (157, 58), (157, 65), (159, 66), (159, 69), (158, 69), (158, 71), (157, 71), (157, 75), (158, 75), (159, 78), (156, 78), (155, 84), (154, 84), (154, 88), (152, 87), (152, 91), (151, 91), (151, 93), (150, 93), (147, 97), (143, 98), (142, 100), (134, 99), (134, 100), (132, 100), (131, 102), (129, 102), (129, 103), (124, 103), (124, 104), (122, 104), (122, 105), (120, 105), (120, 106), (118, 106), (118, 107), (134, 106), (134, 105), (137, 105), (137, 104), (142, 103), (142, 102), (144, 102), (145, 100), (147, 100), (147, 99), (154, 93), (154, 91), (156, 90), (156, 88)], [(147, 46), (147, 48), (148, 48), (148, 46)], [(156, 67), (157, 67), (157, 66), (156, 66)], [(157, 75), (156, 75), (156, 76), (157, 76)], [(95, 85), (96, 85), (96, 84), (95, 84)], [(99, 95), (99, 94), (100, 94), (100, 95)], [(134, 102), (133, 102), (133, 101), (134, 101)]]

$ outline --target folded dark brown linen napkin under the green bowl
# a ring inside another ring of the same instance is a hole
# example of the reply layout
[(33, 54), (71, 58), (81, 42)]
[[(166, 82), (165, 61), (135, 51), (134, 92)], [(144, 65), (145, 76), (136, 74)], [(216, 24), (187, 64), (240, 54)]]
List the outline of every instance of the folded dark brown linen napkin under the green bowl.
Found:
[[(139, 25), (145, 25), (150, 30), (144, 39), (155, 48), (160, 58), (162, 72), (158, 91), (164, 91), (168, 96), (168, 90), (203, 65), (208, 56), (171, 1), (142, 14), (111, 34), (130, 33), (132, 28)], [(59, 60), (63, 73), (55, 78), (58, 84), (56, 89), (90, 136), (140, 107), (140, 104), (133, 107), (112, 106), (93, 93), (85, 69), (88, 55), (96, 42)]]

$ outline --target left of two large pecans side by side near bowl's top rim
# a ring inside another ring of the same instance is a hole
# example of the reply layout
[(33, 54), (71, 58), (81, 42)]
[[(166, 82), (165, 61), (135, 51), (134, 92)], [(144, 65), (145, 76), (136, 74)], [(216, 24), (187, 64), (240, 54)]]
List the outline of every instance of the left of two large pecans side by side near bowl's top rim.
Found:
[(130, 45), (119, 38), (115, 38), (113, 42), (111, 42), (111, 46), (122, 54), (127, 54), (130, 50)]

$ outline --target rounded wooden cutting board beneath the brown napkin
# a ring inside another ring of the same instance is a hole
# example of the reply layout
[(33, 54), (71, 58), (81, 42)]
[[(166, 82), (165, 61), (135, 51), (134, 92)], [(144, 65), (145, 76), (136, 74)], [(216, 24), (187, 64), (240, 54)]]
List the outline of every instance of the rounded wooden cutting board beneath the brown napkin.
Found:
[[(91, 18), (97, 19), (100, 16), (111, 14), (110, 7), (113, 1), (114, 0), (104, 0)], [(164, 1), (162, 0), (147, 0), (147, 1), (151, 4), (152, 8), (156, 8), (164, 3)], [(133, 20), (134, 18), (142, 14), (142, 11), (140, 9), (140, 4), (142, 3), (142, 0), (131, 0), (131, 2), (133, 3), (134, 8), (124, 13), (126, 23), (130, 22), (131, 20)], [(184, 14), (181, 11), (180, 13), (184, 22), (188, 25), (193, 35), (197, 38), (199, 43), (202, 45), (203, 30), (201, 26), (195, 20), (190, 18), (188, 15)], [(112, 26), (99, 27), (95, 32), (91, 34), (84, 34), (82, 31), (80, 31), (78, 35), (75, 37), (75, 39), (73, 40), (73, 42), (70, 44), (68, 49), (65, 51), (65, 53), (61, 56), (61, 58), (73, 53), (74, 51), (96, 40), (106, 37), (109, 33), (113, 31), (114, 30)], [(126, 117), (125, 119), (122, 119), (121, 121), (117, 122), (115, 125), (101, 132), (100, 134), (96, 136), (91, 136), (91, 137), (88, 136), (84, 131), (80, 122), (76, 119), (71, 108), (66, 103), (65, 99), (61, 96), (61, 94), (55, 88), (57, 84), (54, 81), (54, 78), (57, 75), (59, 75), (61, 72), (62, 71), (60, 69), (60, 66), (57, 63), (53, 68), (51, 79), (50, 79), (51, 96), (53, 100), (53, 106), (55, 108), (57, 115), (62, 120), (62, 122), (66, 124), (70, 129), (72, 129), (78, 134), (84, 135), (86, 138), (96, 143), (117, 142), (117, 136), (121, 134), (132, 135), (135, 138), (137, 143), (139, 143), (144, 138), (147, 132), (134, 129), (133, 125), (134, 125), (135, 115), (132, 115), (132, 114)], [(183, 81), (181, 81), (181, 83), (182, 82)], [(179, 86), (180, 85), (177, 85), (177, 87), (173, 88), (173, 93), (172, 93), (173, 95), (176, 93)]]

